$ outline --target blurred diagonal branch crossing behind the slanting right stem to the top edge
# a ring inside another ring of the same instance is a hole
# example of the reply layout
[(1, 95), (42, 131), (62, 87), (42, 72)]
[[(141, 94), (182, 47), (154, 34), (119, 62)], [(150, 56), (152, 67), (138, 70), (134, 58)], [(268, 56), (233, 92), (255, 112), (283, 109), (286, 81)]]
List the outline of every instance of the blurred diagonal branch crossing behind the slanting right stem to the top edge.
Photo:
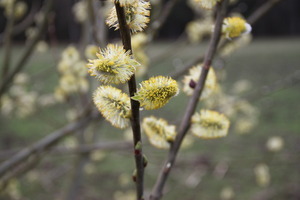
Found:
[[(249, 24), (255, 24), (260, 18), (262, 18), (271, 8), (273, 8), (277, 3), (279, 3), (282, 0), (269, 0), (266, 3), (264, 3), (261, 7), (259, 7), (257, 10), (255, 10), (247, 19), (247, 22)], [(218, 48), (218, 52), (222, 50), (229, 42), (232, 41), (224, 41), (222, 44), (220, 44)], [(180, 76), (182, 76), (184, 73), (186, 73), (192, 66), (195, 64), (202, 62), (204, 59), (204, 56), (199, 56), (195, 60), (187, 63), (184, 67), (179, 69), (178, 71), (173, 72), (170, 76), (174, 79), (178, 79)]]

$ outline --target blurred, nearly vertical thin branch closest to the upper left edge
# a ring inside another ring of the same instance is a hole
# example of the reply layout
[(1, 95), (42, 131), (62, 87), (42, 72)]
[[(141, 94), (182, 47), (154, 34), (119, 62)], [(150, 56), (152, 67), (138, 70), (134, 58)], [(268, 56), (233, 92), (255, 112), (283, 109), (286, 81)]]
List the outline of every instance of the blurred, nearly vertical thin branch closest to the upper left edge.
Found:
[(11, 40), (12, 40), (12, 31), (15, 22), (15, 1), (12, 2), (12, 10), (7, 17), (7, 24), (5, 27), (5, 35), (4, 35), (4, 57), (3, 57), (3, 68), (2, 68), (2, 78), (8, 73), (11, 61)]

